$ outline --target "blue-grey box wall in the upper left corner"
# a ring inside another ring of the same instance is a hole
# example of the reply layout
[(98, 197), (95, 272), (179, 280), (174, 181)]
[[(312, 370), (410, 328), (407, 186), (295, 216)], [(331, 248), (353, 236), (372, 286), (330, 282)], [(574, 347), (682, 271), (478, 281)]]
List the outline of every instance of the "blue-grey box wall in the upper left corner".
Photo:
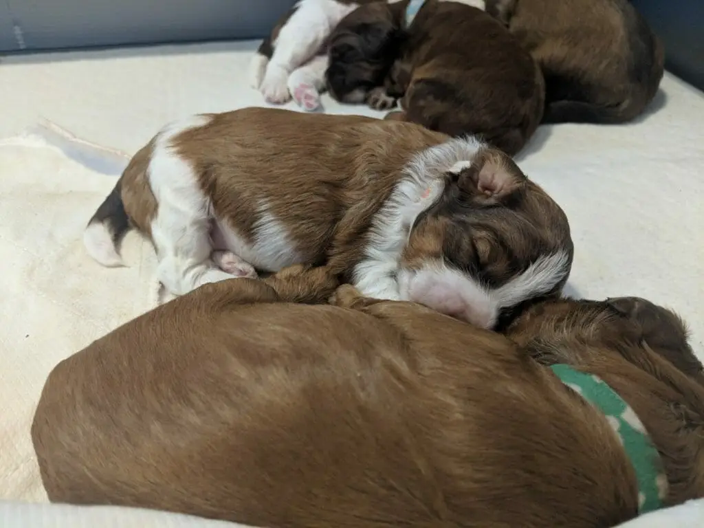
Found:
[(0, 0), (0, 51), (261, 38), (295, 0)]

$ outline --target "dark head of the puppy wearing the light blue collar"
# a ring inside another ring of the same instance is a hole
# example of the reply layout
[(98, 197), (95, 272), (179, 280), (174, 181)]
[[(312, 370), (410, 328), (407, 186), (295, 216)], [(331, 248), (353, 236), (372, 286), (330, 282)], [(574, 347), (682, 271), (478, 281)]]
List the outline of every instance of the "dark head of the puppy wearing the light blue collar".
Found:
[(328, 40), (325, 81), (330, 94), (344, 103), (362, 103), (381, 86), (403, 42), (408, 0), (372, 2), (356, 8), (337, 25)]

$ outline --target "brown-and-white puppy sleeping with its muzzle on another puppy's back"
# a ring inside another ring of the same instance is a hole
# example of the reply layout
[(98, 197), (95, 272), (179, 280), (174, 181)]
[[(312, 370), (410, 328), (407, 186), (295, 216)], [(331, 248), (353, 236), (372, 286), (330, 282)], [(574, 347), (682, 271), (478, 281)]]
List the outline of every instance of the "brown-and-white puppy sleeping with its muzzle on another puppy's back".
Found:
[(255, 268), (325, 264), (367, 296), (482, 327), (559, 291), (573, 254), (560, 207), (475, 139), (267, 108), (157, 134), (90, 220), (91, 256), (120, 265), (130, 225), (153, 242), (170, 294)]

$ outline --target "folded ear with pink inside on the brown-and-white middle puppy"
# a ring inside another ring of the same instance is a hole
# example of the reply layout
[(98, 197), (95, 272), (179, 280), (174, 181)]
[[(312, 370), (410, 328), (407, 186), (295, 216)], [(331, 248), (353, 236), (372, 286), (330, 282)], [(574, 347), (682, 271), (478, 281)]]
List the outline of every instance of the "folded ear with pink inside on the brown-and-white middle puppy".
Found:
[(527, 184), (527, 177), (500, 151), (482, 149), (472, 161), (460, 161), (448, 171), (460, 189), (486, 199), (501, 199)]

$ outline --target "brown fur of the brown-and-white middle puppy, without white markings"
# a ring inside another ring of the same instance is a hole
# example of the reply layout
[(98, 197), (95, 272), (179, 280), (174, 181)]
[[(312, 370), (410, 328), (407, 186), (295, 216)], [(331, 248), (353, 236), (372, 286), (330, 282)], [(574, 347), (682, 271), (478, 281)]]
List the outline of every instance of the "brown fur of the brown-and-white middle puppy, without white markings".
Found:
[[(126, 220), (120, 220), (125, 216), (151, 236), (158, 203), (145, 175), (155, 141), (137, 153), (91, 222), (112, 222), (126, 230)], [(206, 125), (180, 132), (171, 145), (194, 168), (214, 218), (251, 244), (259, 204), (268, 203), (268, 213), (286, 228), (299, 263), (328, 265), (348, 280), (365, 258), (373, 220), (406, 177), (410, 161), (448, 141), (444, 134), (411, 123), (246, 108), (209, 115)], [(479, 149), (472, 165), (459, 174), (449, 168), (427, 169), (437, 172), (431, 175), (443, 190), (415, 225), (404, 227), (415, 249), (413, 258), (402, 256), (401, 265), (414, 268), (411, 260), (422, 260), (417, 248), (436, 243), (442, 251), (435, 251), (435, 258), (482, 284), (500, 287), (541, 256), (563, 251), (569, 263), (555, 286), (559, 291), (572, 261), (570, 228), (559, 206), (495, 149)], [(425, 229), (427, 225), (435, 227)], [(423, 240), (430, 233), (436, 241)], [(214, 249), (226, 249), (218, 246), (224, 242), (217, 230), (213, 240)]]

